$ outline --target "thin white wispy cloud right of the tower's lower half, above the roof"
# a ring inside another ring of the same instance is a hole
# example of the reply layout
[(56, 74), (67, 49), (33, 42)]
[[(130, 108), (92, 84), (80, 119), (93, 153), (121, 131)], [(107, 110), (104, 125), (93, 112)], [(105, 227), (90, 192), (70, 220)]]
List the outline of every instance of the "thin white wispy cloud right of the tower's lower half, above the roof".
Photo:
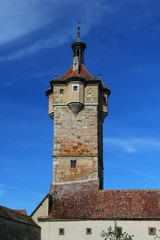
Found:
[(140, 150), (160, 150), (160, 139), (156, 138), (104, 138), (104, 146), (127, 153)]

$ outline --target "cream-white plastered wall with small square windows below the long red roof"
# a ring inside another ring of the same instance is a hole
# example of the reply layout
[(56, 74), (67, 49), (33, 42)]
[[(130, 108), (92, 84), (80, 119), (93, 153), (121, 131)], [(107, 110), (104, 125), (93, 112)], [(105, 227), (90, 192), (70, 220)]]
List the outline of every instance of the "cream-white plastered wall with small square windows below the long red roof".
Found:
[[(123, 232), (134, 235), (133, 240), (153, 240), (155, 235), (148, 235), (148, 227), (160, 230), (160, 221), (117, 221)], [(114, 226), (114, 221), (40, 221), (41, 240), (104, 240), (101, 232), (107, 231), (109, 226)], [(64, 235), (59, 235), (59, 228), (64, 228)], [(86, 228), (92, 228), (92, 235), (86, 235)], [(160, 235), (160, 234), (159, 234)]]

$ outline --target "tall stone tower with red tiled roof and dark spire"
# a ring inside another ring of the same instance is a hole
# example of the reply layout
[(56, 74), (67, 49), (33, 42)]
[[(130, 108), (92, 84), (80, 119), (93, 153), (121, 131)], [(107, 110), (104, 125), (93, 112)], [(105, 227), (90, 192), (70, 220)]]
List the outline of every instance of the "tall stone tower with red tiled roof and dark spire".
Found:
[(53, 184), (98, 180), (103, 188), (103, 121), (110, 90), (85, 68), (86, 44), (71, 45), (73, 64), (46, 91), (54, 124)]

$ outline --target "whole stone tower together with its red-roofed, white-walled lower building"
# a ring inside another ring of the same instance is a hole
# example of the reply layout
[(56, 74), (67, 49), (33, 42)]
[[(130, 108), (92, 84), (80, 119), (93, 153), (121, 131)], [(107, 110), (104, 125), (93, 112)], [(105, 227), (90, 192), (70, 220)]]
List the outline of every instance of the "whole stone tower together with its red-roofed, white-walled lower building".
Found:
[(46, 91), (54, 123), (53, 183), (31, 217), (41, 240), (100, 240), (115, 221), (134, 240), (152, 240), (160, 230), (160, 190), (103, 190), (110, 90), (85, 68), (79, 29), (71, 46), (72, 66)]

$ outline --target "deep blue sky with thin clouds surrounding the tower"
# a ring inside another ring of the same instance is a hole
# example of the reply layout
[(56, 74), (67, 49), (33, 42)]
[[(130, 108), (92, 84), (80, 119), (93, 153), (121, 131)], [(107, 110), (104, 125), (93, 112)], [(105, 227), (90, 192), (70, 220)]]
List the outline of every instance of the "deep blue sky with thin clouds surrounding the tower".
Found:
[(44, 91), (72, 64), (111, 89), (104, 188), (160, 188), (160, 1), (0, 1), (0, 204), (31, 213), (52, 183), (53, 124)]

